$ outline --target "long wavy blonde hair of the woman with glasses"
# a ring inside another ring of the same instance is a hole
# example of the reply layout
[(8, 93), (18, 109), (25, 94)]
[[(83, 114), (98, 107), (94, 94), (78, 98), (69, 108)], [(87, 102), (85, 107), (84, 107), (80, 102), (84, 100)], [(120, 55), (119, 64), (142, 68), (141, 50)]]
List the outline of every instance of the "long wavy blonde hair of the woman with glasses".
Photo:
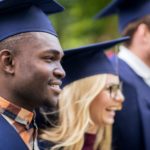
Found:
[[(77, 80), (64, 87), (59, 99), (59, 125), (43, 131), (41, 137), (56, 143), (52, 150), (81, 150), (84, 134), (90, 124), (89, 107), (106, 84), (106, 74)], [(96, 135), (94, 150), (109, 150), (110, 127), (100, 127)]]

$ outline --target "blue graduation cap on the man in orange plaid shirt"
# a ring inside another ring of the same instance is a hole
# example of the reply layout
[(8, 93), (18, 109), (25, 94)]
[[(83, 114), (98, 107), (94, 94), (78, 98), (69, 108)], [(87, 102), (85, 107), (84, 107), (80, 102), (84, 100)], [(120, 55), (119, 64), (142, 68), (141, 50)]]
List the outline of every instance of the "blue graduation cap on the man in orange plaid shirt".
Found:
[(63, 10), (54, 0), (0, 0), (0, 41), (24, 32), (57, 36), (47, 15)]

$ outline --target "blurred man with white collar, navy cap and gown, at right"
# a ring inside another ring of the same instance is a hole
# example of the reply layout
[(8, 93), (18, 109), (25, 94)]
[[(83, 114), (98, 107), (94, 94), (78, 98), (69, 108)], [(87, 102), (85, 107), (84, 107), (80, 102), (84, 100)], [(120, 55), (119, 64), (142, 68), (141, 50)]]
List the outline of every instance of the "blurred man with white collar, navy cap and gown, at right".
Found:
[(118, 54), (125, 102), (116, 115), (113, 149), (150, 150), (150, 2), (115, 0), (97, 17), (116, 13), (120, 32), (131, 39)]

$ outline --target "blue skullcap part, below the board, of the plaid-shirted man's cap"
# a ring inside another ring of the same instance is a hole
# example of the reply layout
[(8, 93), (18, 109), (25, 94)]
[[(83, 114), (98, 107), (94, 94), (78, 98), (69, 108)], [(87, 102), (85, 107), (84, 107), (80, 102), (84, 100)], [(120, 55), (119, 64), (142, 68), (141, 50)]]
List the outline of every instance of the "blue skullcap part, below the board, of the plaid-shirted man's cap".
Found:
[(46, 32), (57, 35), (48, 16), (38, 7), (0, 15), (0, 41), (25, 32)]

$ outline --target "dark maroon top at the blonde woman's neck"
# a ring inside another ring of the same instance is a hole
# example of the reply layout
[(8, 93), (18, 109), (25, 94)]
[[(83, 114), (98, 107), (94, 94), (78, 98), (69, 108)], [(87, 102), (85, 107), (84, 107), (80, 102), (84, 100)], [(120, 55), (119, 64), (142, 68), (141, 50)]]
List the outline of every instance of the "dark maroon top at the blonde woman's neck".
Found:
[(96, 135), (86, 133), (84, 137), (84, 145), (82, 150), (93, 150), (95, 143)]

